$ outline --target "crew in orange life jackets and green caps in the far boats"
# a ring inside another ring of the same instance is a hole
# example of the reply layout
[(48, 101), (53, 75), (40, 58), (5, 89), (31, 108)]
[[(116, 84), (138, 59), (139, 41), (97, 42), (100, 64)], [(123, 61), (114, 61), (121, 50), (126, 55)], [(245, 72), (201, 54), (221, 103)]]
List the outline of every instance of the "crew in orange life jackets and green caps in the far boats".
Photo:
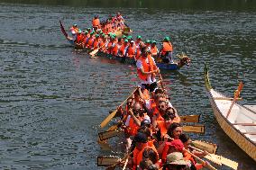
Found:
[[(106, 27), (106, 24), (117, 26)], [(119, 25), (121, 25), (121, 27), (119, 27)], [(137, 60), (141, 56), (142, 48), (146, 47), (151, 51), (153, 57), (160, 57), (157, 58), (158, 62), (173, 63), (171, 57), (172, 44), (169, 37), (164, 38), (160, 50), (157, 48), (156, 40), (145, 40), (145, 42), (143, 42), (142, 36), (140, 35), (137, 36), (136, 40), (133, 40), (131, 35), (117, 37), (114, 31), (118, 31), (125, 26), (120, 13), (117, 13), (111, 20), (108, 19), (104, 26), (100, 24), (98, 16), (96, 15), (93, 19), (92, 26), (93, 29), (87, 28), (85, 31), (78, 29), (77, 24), (74, 24), (70, 28), (73, 40), (78, 47), (99, 50), (119, 57), (134, 58), (134, 60)], [(112, 29), (105, 29), (109, 27), (112, 27)]]

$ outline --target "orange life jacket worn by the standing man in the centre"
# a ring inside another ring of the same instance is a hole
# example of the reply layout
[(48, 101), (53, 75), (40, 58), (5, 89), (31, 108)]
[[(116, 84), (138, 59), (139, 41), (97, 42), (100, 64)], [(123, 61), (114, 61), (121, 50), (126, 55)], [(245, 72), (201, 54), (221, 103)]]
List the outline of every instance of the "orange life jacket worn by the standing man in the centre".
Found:
[[(152, 70), (155, 70), (157, 67), (154, 64), (151, 55), (148, 55), (147, 58), (148, 58), (149, 63), (146, 62), (146, 58), (143, 58), (143, 57), (139, 58), (142, 61), (142, 67), (144, 69), (144, 72), (150, 72)], [(142, 74), (141, 69), (137, 68), (137, 73), (141, 80), (147, 81), (148, 75)]]

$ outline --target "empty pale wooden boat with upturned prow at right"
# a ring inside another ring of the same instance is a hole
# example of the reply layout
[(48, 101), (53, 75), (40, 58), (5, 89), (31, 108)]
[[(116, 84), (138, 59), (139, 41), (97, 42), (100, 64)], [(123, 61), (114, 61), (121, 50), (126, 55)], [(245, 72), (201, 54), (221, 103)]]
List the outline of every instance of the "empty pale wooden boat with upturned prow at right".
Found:
[[(206, 66), (205, 85), (220, 127), (248, 156), (256, 161), (256, 112), (238, 103), (233, 104), (232, 98), (216, 92), (210, 84)], [(232, 110), (228, 115), (232, 104)]]

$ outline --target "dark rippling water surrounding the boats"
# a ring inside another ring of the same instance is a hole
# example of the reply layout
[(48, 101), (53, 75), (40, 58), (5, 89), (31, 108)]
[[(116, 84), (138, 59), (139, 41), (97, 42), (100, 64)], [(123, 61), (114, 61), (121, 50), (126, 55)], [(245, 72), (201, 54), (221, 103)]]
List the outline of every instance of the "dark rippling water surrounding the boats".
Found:
[(0, 169), (97, 169), (96, 156), (114, 155), (98, 147), (97, 126), (136, 85), (135, 68), (70, 48), (59, 19), (86, 28), (95, 13), (117, 11), (134, 35), (169, 35), (174, 50), (192, 59), (179, 72), (162, 72), (178, 113), (201, 114), (206, 135), (192, 137), (215, 142), (240, 169), (255, 169), (215, 121), (203, 79), (206, 61), (215, 89), (232, 96), (242, 80), (242, 104), (255, 104), (255, 1), (0, 2)]

